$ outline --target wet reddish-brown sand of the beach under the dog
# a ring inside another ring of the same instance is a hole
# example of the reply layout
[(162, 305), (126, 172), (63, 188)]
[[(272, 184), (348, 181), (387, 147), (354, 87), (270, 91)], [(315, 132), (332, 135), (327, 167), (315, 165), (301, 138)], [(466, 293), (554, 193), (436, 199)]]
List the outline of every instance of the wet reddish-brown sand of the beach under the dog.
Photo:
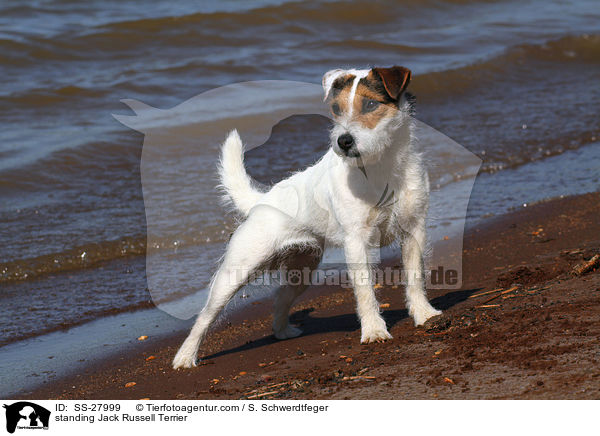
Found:
[(598, 399), (600, 271), (572, 270), (600, 253), (599, 213), (594, 193), (471, 228), (463, 288), (429, 293), (442, 317), (416, 328), (402, 289), (379, 289), (394, 337), (383, 344), (360, 344), (351, 291), (309, 289), (292, 310), (304, 330), (298, 338), (275, 340), (270, 303), (262, 302), (221, 320), (197, 368), (170, 368), (185, 333), (149, 337), (118, 358), (17, 397)]

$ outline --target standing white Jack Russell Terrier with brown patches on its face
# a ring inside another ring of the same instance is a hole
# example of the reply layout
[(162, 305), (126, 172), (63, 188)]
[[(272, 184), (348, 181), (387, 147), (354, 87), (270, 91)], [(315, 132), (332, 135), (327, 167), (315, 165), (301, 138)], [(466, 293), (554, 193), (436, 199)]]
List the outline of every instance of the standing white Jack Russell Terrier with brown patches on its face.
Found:
[[(411, 102), (405, 93), (410, 75), (403, 67), (327, 72), (323, 88), (334, 118), (331, 148), (316, 164), (268, 192), (253, 186), (244, 168), (242, 141), (237, 131), (229, 134), (219, 175), (227, 199), (246, 219), (231, 237), (206, 306), (177, 352), (173, 368), (196, 365), (209, 326), (253, 272), (275, 262), (288, 270), (314, 270), (325, 246), (344, 249), (361, 342), (391, 338), (373, 290), (369, 255), (373, 247), (402, 241), (408, 312), (415, 325), (441, 313), (425, 294), (429, 181), (415, 150)], [(285, 284), (278, 290), (273, 319), (278, 339), (302, 333), (289, 324), (288, 314), (308, 285)]]

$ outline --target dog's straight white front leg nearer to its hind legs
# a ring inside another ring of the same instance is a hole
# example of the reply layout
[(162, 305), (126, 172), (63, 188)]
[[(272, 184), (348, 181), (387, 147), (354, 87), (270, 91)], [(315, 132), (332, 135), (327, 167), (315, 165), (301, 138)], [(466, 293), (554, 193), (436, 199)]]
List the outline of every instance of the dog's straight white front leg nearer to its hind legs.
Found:
[(380, 342), (391, 339), (385, 321), (379, 313), (379, 303), (372, 285), (372, 271), (369, 265), (368, 237), (348, 236), (344, 240), (344, 254), (350, 279), (354, 286), (356, 307), (361, 325), (362, 343)]

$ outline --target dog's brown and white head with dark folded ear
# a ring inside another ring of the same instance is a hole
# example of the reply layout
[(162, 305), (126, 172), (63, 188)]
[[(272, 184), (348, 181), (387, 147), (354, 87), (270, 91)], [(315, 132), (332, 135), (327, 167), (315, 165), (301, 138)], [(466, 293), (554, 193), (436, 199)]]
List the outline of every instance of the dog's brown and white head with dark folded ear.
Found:
[(378, 160), (410, 116), (405, 93), (410, 70), (404, 67), (331, 70), (323, 76), (325, 102), (334, 126), (331, 143), (343, 157)]

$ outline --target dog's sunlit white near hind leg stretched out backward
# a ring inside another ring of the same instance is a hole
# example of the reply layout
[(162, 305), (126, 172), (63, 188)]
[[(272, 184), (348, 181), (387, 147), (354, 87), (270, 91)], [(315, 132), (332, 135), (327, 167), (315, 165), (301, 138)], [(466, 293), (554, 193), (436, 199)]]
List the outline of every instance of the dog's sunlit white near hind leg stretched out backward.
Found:
[(289, 216), (269, 206), (253, 209), (232, 235), (223, 263), (211, 282), (208, 301), (173, 359), (173, 368), (196, 365), (200, 343), (229, 300), (277, 251), (300, 238), (294, 234)]

